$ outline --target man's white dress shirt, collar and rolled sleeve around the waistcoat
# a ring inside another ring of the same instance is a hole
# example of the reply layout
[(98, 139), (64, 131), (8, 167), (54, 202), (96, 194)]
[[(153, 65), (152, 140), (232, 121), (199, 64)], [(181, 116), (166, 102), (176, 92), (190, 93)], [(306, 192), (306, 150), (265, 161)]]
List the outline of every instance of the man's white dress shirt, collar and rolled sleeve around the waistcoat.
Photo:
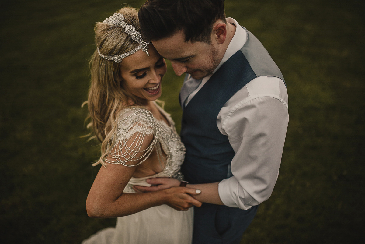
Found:
[[(227, 22), (235, 25), (236, 31), (214, 72), (247, 41), (248, 33), (236, 20), (227, 18)], [(185, 106), (211, 76), (203, 78)], [(279, 173), (288, 121), (287, 89), (277, 77), (251, 80), (224, 104), (217, 126), (228, 136), (235, 152), (231, 162), (233, 176), (218, 185), (224, 205), (250, 209), (270, 197)]]

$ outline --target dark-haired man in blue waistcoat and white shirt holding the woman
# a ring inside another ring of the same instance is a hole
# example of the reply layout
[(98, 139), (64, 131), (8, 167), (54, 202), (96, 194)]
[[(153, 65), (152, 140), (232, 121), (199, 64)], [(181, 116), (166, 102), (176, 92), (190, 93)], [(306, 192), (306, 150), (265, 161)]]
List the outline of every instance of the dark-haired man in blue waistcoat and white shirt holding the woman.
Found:
[(147, 0), (138, 16), (176, 75), (187, 74), (182, 170), (204, 202), (194, 209), (193, 243), (239, 243), (277, 180), (289, 118), (283, 75), (261, 42), (226, 18), (224, 0)]

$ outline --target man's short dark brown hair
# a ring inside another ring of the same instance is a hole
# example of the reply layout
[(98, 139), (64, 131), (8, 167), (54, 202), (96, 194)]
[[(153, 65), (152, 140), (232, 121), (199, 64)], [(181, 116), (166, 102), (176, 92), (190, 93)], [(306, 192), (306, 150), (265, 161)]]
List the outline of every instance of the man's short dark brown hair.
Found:
[(147, 0), (138, 18), (143, 37), (152, 41), (183, 30), (185, 42), (211, 44), (214, 22), (226, 23), (224, 0)]

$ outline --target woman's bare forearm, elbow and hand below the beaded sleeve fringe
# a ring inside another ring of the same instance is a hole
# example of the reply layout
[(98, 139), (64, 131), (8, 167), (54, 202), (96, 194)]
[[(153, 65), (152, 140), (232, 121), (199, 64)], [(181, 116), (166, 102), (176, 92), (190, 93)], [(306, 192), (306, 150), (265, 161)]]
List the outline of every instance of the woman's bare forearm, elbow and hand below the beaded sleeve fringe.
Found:
[[(135, 167), (108, 164), (101, 167), (89, 192), (86, 208), (89, 217), (112, 218), (126, 216), (158, 205), (169, 205), (176, 210), (188, 210), (201, 203), (191, 197), (195, 189), (173, 187), (143, 194), (123, 193)], [(191, 195), (189, 195), (191, 194)]]

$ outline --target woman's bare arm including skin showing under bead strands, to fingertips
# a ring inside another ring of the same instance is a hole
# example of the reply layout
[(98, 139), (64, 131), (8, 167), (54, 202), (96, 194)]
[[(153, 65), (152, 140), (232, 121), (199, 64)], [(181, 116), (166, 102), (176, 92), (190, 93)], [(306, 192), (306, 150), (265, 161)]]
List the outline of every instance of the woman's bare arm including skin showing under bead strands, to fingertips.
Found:
[(184, 187), (143, 194), (123, 193), (137, 165), (147, 163), (143, 160), (149, 157), (153, 142), (153, 134), (137, 131), (125, 140), (118, 140), (112, 147), (105, 158), (107, 167), (101, 166), (86, 201), (86, 209), (90, 217), (126, 216), (163, 204), (176, 210), (188, 210), (193, 205), (201, 205), (199, 201), (191, 197), (196, 195), (196, 191)]

